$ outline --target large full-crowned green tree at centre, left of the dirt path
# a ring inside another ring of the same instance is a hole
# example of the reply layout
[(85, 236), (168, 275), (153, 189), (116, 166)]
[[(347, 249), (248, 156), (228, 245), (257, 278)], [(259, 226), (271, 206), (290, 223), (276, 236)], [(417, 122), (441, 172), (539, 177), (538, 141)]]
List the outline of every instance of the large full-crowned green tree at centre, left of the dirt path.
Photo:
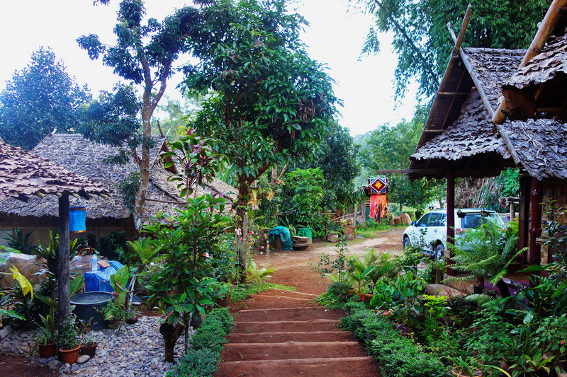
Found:
[(217, 94), (191, 127), (215, 139), (235, 166), (242, 221), (252, 183), (272, 166), (312, 151), (338, 100), (332, 79), (299, 40), (305, 21), (287, 13), (285, 1), (200, 3), (202, 33), (190, 42), (200, 62), (185, 67), (184, 87)]

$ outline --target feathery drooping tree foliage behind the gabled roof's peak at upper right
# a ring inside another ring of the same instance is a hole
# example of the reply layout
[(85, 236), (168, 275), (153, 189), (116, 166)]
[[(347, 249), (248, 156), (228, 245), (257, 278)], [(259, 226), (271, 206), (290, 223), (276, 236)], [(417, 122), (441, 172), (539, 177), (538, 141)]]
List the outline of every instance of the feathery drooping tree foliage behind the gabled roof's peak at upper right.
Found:
[(412, 78), (417, 78), (421, 93), (431, 95), (437, 90), (454, 46), (447, 23), (451, 23), (458, 35), (469, 3), (472, 16), (463, 45), (510, 49), (529, 46), (549, 3), (545, 0), (358, 1), (376, 19), (366, 38), (365, 52), (379, 51), (378, 32), (394, 33), (398, 95), (403, 94)]

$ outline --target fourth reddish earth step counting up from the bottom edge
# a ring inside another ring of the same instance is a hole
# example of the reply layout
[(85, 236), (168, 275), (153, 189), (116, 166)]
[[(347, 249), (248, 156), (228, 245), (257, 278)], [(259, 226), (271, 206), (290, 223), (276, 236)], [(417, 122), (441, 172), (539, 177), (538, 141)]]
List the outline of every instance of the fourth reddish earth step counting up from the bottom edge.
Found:
[(333, 331), (339, 329), (339, 320), (313, 319), (313, 320), (277, 320), (277, 321), (250, 321), (237, 322), (232, 332), (307, 332), (307, 331)]

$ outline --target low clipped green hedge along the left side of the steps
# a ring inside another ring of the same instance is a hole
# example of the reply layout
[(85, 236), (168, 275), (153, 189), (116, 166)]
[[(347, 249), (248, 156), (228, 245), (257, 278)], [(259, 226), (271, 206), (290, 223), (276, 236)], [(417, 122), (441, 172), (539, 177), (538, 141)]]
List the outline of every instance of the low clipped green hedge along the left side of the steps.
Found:
[(207, 377), (217, 370), (220, 352), (233, 322), (228, 308), (214, 308), (191, 337), (191, 347), (167, 377)]

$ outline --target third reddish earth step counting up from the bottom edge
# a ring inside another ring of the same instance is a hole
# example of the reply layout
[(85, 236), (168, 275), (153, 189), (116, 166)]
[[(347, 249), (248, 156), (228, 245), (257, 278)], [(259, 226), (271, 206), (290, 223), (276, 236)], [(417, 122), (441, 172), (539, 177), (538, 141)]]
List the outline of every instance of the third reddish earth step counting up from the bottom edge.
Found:
[(279, 343), (288, 342), (351, 342), (348, 331), (291, 331), (291, 332), (232, 332), (227, 337), (230, 343)]

